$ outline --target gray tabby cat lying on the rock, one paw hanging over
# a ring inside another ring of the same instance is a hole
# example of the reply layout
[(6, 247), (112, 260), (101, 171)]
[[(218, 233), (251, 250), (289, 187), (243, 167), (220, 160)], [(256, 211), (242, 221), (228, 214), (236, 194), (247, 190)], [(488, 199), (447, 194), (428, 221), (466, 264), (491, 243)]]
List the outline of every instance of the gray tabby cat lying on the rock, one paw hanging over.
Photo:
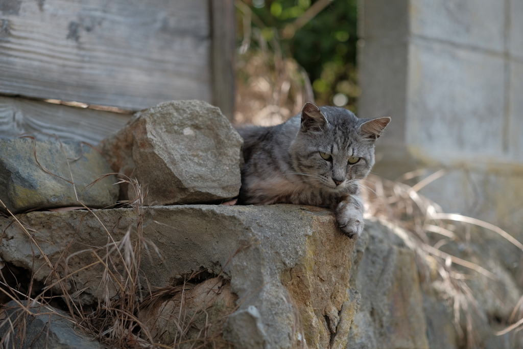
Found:
[(238, 129), (244, 139), (238, 204), (299, 204), (336, 210), (350, 238), (363, 230), (358, 179), (374, 165), (374, 141), (390, 118), (358, 119), (344, 108), (306, 103), (285, 123)]

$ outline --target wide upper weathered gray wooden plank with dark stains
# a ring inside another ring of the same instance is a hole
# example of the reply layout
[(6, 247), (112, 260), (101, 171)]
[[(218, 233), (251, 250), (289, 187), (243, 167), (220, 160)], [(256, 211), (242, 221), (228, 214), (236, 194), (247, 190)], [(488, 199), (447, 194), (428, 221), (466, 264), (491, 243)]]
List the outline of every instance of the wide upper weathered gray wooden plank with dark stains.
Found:
[(133, 110), (211, 102), (207, 0), (0, 4), (0, 93)]

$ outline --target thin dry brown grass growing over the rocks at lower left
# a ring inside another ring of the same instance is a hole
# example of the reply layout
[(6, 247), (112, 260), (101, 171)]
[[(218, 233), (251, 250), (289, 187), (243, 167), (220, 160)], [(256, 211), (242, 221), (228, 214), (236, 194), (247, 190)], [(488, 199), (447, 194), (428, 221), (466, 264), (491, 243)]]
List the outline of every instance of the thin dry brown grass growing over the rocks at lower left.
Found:
[[(65, 151), (64, 155), (67, 158)], [(67, 161), (69, 162), (69, 159)], [(43, 167), (42, 170), (46, 171)], [(103, 177), (100, 177), (97, 181)], [(93, 182), (92, 185), (97, 181)], [(72, 174), (71, 181), (67, 182), (71, 183), (74, 187)], [(223, 316), (214, 319), (213, 322), (209, 321), (209, 317), (206, 314), (208, 314), (209, 308), (213, 306), (212, 303), (209, 303), (208, 307), (193, 307), (191, 309), (191, 316), (186, 316), (187, 309), (185, 308), (185, 304), (191, 297), (190, 292), (187, 292), (187, 290), (197, 287), (194, 282), (201, 276), (201, 272), (186, 276), (181, 285), (164, 289), (153, 289), (147, 283), (147, 278), (140, 269), (142, 257), (144, 253), (149, 255), (149, 257), (151, 257), (151, 253), (160, 255), (155, 244), (143, 236), (143, 220), (146, 212), (143, 201), (147, 193), (142, 186), (133, 179), (123, 179), (121, 182), (126, 182), (135, 190), (135, 199), (133, 201), (121, 202), (120, 204), (127, 205), (134, 209), (134, 216), (137, 222), (136, 226), (128, 227), (127, 232), (119, 240), (116, 240), (97, 217), (96, 211), (89, 209), (78, 200), (78, 205), (86, 209), (88, 211), (87, 214), (93, 215), (98, 220), (100, 226), (103, 227), (107, 235), (107, 244), (98, 249), (86, 249), (68, 255), (67, 250), (72, 244), (71, 241), (66, 251), (62, 253), (60, 260), (55, 263), (49, 260), (35, 239), (34, 236), (37, 232), (27, 227), (24, 222), (21, 222), (0, 200), (0, 205), (9, 213), (7, 218), (11, 220), (11, 224), (16, 224), (19, 229), (25, 232), (32, 246), (39, 250), (43, 256), (46, 266), (51, 269), (48, 279), (44, 281), (46, 287), (41, 291), (36, 290), (34, 285), (39, 283), (33, 278), (29, 278), (27, 285), (23, 285), (22, 290), (25, 291), (20, 291), (21, 284), (16, 277), (13, 278), (9, 277), (9, 275), (4, 275), (4, 272), (10, 270), (10, 268), (0, 269), (0, 277), (2, 278), (0, 291), (4, 295), (3, 298), (14, 300), (20, 309), (22, 309), (22, 311), (17, 313), (18, 316), (16, 319), (1, 318), (0, 327), (6, 323), (9, 323), (10, 327), (8, 335), (0, 340), (2, 347), (16, 347), (24, 342), (27, 319), (31, 316), (30, 308), (35, 306), (43, 307), (44, 310), (41, 314), (52, 313), (58, 317), (64, 317), (63, 314), (57, 313), (51, 304), (61, 306), (63, 310), (68, 313), (68, 316), (65, 318), (71, 321), (77, 330), (95, 337), (95, 339), (108, 347), (230, 347), (230, 344), (222, 339), (220, 332), (221, 326), (228, 314), (222, 314)], [(0, 236), (0, 243), (4, 235), (5, 231)], [(94, 256), (95, 262), (85, 265), (79, 270), (70, 271), (67, 267), (68, 261), (70, 258), (81, 254)], [(33, 260), (34, 258), (35, 254), (33, 252)], [(98, 300), (95, 306), (85, 307), (81, 302), (77, 301), (78, 296), (85, 290), (78, 290), (70, 294), (68, 285), (74, 285), (74, 275), (77, 272), (96, 266), (101, 266), (103, 269), (101, 282), (98, 285), (99, 293), (102, 294), (103, 297)], [(34, 274), (36, 273), (33, 273), (33, 275)], [(208, 277), (210, 276), (208, 275)], [(221, 277), (219, 280), (222, 286), (228, 285), (228, 280)], [(57, 287), (60, 290), (60, 296), (53, 295), (53, 290)], [(220, 290), (213, 291), (214, 294), (220, 293)], [(154, 336), (147, 325), (141, 322), (140, 311), (146, 309), (154, 300), (167, 296), (181, 299), (179, 304), (180, 317), (176, 319), (180, 332), (173, 343), (162, 344), (158, 342), (157, 333), (155, 333), (156, 336)], [(207, 296), (209, 296), (209, 294)], [(235, 309), (231, 309), (231, 312), (234, 310)], [(3, 313), (3, 315), (5, 316), (5, 313)], [(201, 321), (202, 317), (204, 321)], [(210, 331), (211, 329), (212, 331)], [(48, 330), (42, 331), (40, 335), (49, 335)]]

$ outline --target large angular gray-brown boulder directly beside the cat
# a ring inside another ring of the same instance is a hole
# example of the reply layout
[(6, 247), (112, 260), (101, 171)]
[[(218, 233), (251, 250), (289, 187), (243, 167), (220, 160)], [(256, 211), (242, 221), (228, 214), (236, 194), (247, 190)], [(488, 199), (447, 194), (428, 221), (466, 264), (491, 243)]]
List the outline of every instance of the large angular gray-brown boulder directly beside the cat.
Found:
[[(135, 114), (99, 148), (115, 172), (146, 185), (146, 205), (234, 198), (243, 140), (220, 109), (200, 100), (158, 104)], [(120, 199), (134, 199), (122, 184)]]

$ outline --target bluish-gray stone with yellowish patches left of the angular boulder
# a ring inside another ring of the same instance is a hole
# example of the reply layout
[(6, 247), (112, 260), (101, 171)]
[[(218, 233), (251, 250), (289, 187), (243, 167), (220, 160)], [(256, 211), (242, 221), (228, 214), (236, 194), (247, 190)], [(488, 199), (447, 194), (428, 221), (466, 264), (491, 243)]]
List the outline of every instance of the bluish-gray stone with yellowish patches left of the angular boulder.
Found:
[[(0, 139), (0, 199), (13, 213), (81, 206), (78, 201), (92, 208), (113, 205), (118, 198), (115, 176), (89, 186), (111, 172), (104, 158), (81, 142)], [(2, 205), (0, 211), (5, 212)]]

